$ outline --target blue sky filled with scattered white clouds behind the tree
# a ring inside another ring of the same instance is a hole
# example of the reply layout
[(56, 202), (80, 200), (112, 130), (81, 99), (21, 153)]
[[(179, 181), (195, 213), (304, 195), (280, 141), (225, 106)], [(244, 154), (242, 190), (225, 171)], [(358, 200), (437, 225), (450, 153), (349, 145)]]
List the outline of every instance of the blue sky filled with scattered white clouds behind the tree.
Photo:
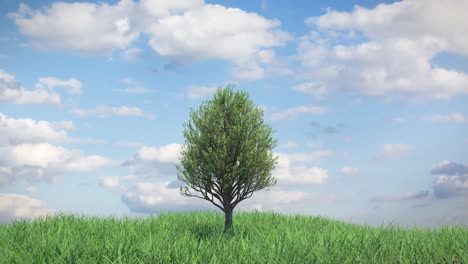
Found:
[[(0, 222), (217, 211), (180, 195), (191, 109), (234, 85), (278, 179), (234, 211), (468, 225), (464, 0), (0, 0)], [(193, 192), (196, 193), (196, 192)]]

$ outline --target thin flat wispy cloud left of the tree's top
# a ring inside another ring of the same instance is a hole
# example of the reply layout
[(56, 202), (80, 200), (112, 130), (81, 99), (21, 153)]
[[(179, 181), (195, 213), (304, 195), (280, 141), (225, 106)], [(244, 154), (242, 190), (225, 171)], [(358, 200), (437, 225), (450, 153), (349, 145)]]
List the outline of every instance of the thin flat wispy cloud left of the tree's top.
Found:
[(85, 117), (94, 115), (100, 118), (109, 117), (109, 116), (119, 116), (119, 117), (128, 117), (128, 116), (144, 116), (143, 110), (138, 107), (131, 106), (106, 106), (98, 105), (94, 109), (82, 109), (82, 108), (72, 108), (71, 112), (76, 114), (79, 117)]

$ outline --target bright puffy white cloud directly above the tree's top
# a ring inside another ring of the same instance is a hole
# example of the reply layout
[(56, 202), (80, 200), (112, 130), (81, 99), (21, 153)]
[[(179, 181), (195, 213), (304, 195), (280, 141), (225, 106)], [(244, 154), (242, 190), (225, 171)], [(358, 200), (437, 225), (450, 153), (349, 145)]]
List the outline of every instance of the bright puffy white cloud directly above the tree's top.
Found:
[(273, 56), (265, 50), (283, 46), (291, 38), (275, 30), (279, 25), (255, 13), (207, 4), (152, 24), (149, 45), (177, 64), (230, 60), (237, 78), (254, 80), (263, 77), (260, 65)]

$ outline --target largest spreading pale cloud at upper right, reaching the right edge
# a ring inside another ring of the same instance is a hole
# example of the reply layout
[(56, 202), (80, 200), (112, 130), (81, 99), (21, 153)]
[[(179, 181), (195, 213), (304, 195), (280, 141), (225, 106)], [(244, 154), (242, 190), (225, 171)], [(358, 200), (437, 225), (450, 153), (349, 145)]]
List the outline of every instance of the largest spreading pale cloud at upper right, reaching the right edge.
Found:
[[(301, 72), (324, 89), (367, 96), (446, 100), (466, 94), (466, 73), (431, 65), (441, 52), (468, 54), (466, 8), (463, 1), (409, 0), (352, 12), (329, 9), (306, 19), (315, 31), (300, 39)], [(343, 41), (349, 44), (335, 44)]]

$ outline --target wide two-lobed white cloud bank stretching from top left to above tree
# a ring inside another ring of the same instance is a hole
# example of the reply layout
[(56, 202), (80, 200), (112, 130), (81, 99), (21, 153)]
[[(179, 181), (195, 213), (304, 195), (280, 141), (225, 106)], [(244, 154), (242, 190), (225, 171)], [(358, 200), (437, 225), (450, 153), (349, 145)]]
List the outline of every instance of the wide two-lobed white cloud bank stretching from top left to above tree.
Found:
[(234, 76), (248, 80), (263, 78), (263, 65), (275, 61), (271, 48), (291, 39), (277, 20), (199, 0), (56, 2), (38, 10), (21, 4), (9, 16), (40, 48), (106, 55), (126, 49), (123, 58), (133, 60), (139, 50), (128, 47), (146, 34), (149, 46), (172, 64), (229, 60)]

